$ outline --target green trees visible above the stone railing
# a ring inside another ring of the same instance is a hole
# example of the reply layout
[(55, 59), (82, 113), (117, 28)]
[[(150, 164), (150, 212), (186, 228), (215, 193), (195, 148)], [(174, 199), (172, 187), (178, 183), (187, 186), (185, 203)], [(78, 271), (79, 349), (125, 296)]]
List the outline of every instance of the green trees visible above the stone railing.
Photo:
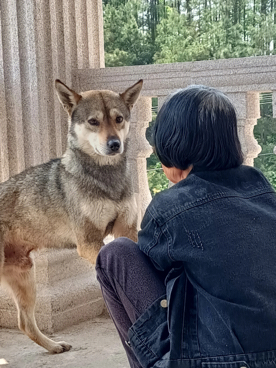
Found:
[(275, 1), (105, 0), (106, 66), (275, 54)]

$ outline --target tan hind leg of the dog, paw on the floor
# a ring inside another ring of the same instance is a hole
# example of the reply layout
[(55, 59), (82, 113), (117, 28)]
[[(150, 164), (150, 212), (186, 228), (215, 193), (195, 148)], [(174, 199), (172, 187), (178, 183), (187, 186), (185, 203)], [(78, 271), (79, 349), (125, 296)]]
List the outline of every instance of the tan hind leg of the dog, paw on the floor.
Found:
[[(30, 255), (31, 258), (31, 255)], [(64, 341), (54, 342), (38, 329), (35, 320), (35, 263), (28, 269), (7, 268), (4, 266), (3, 284), (11, 292), (18, 310), (18, 327), (35, 343), (50, 353), (63, 353), (71, 347)], [(6, 270), (5, 270), (6, 269)]]

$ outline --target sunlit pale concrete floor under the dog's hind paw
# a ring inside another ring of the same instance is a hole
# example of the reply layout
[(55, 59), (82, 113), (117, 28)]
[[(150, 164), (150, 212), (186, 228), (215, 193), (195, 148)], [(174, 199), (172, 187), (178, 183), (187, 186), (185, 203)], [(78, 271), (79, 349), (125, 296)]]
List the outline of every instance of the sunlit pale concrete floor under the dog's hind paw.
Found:
[(18, 329), (0, 329), (0, 367), (129, 368), (121, 340), (107, 316), (82, 322), (51, 338), (73, 347), (62, 354), (49, 354)]

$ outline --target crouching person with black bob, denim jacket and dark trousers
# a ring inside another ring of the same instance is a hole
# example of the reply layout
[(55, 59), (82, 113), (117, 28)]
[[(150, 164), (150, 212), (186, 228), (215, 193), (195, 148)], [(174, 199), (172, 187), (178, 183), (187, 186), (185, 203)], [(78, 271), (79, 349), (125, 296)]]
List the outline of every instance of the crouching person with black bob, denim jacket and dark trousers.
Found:
[(130, 367), (275, 367), (276, 193), (242, 165), (232, 102), (201, 85), (173, 93), (152, 145), (176, 184), (138, 243), (115, 239), (96, 264)]

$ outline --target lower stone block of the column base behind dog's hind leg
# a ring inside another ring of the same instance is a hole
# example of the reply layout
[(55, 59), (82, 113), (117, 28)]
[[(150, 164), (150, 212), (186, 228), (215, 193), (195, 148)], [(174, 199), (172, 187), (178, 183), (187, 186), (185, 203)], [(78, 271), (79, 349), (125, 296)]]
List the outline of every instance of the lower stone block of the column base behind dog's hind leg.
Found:
[[(52, 285), (37, 283), (36, 290), (37, 325), (47, 333), (106, 313), (94, 269), (58, 280)], [(17, 326), (14, 301), (3, 289), (0, 289), (0, 326)]]

